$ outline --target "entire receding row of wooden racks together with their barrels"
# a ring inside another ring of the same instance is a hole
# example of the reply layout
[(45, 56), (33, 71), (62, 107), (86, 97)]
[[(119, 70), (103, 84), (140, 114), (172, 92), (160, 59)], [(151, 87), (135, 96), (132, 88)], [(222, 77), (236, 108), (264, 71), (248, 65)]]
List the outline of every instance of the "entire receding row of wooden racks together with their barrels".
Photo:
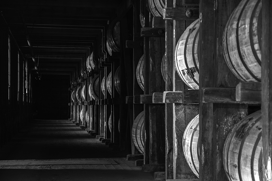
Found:
[(228, 2), (127, 1), (71, 119), (155, 179), (271, 180), (272, 2)]

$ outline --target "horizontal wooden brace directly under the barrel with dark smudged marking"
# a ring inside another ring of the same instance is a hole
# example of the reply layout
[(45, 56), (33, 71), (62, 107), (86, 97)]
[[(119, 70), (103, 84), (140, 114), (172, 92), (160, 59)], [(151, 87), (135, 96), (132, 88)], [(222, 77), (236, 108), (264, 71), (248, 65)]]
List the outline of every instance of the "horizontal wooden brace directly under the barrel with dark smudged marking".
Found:
[(198, 103), (199, 90), (184, 90), (183, 92), (164, 91), (164, 103)]

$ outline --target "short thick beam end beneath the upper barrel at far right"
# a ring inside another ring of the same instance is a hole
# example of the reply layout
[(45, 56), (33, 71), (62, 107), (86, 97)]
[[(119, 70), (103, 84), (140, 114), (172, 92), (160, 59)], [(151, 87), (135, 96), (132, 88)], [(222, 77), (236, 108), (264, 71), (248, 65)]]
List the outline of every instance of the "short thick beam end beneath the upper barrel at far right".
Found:
[(259, 102), (262, 101), (261, 82), (240, 82), (236, 86), (236, 101), (240, 102)]

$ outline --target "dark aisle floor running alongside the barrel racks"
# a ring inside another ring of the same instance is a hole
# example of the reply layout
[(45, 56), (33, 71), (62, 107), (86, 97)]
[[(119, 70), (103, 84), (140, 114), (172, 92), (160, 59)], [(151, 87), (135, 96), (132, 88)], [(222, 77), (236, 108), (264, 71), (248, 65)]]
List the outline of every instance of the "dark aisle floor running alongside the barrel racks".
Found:
[[(154, 180), (152, 173), (126, 161), (126, 154), (108, 148), (68, 120), (34, 120), (0, 149), (0, 165), (12, 162), (0, 166), (0, 180)], [(57, 164), (47, 164), (56, 160)], [(33, 161), (36, 165), (29, 165)]]

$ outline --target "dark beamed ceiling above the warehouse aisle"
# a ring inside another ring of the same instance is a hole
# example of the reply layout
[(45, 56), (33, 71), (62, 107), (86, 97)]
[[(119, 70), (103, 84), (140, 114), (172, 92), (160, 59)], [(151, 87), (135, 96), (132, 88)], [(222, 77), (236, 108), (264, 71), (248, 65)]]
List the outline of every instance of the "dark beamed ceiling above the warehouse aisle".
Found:
[(39, 74), (73, 76), (92, 51), (99, 56), (95, 52), (123, 4), (121, 0), (2, 0), (1, 25), (10, 28), (32, 69), (34, 55)]

